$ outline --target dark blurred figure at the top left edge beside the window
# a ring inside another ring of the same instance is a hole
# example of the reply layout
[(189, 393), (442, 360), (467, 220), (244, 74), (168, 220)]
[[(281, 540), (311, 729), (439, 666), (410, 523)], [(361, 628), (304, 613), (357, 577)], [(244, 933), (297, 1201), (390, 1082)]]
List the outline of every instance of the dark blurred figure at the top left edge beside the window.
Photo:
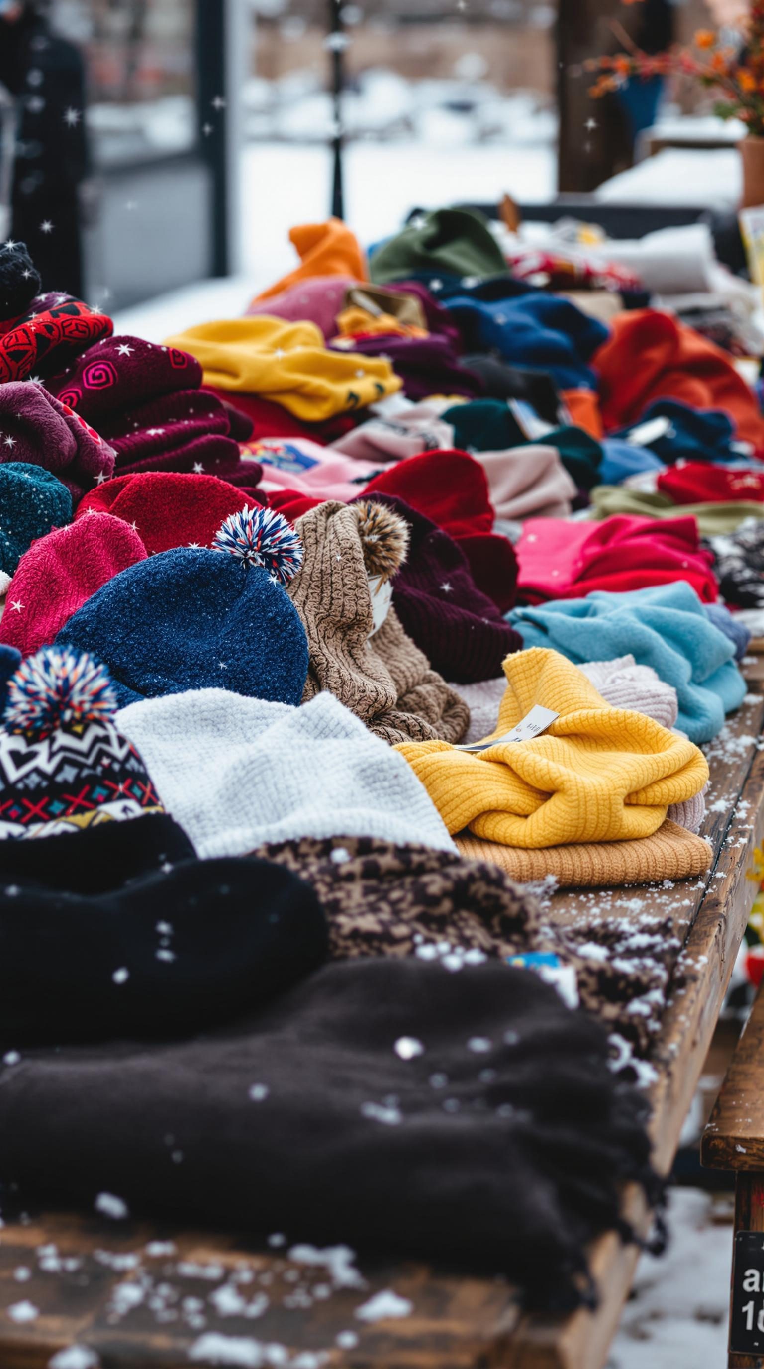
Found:
[(26, 242), (44, 290), (81, 297), (85, 67), (51, 31), (45, 4), (0, 0), (0, 82), (16, 105), (11, 237)]

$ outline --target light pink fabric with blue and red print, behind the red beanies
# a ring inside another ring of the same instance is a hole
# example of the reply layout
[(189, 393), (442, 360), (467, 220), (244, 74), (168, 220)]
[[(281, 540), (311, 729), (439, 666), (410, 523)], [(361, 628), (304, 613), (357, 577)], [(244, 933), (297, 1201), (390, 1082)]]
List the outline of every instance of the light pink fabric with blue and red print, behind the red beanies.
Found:
[(372, 461), (359, 461), (308, 438), (263, 438), (248, 442), (246, 450), (263, 467), (257, 489), (298, 490), (318, 500), (341, 500), (348, 504), (363, 491), (364, 483), (379, 470)]

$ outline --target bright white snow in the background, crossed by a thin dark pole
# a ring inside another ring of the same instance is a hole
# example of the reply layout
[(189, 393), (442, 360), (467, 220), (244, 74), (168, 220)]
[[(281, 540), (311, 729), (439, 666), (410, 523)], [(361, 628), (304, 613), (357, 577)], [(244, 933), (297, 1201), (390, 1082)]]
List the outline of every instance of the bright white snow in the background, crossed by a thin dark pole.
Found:
[[(463, 146), (430, 142), (353, 142), (345, 152), (345, 216), (368, 246), (400, 229), (409, 209), (459, 201), (526, 201), (555, 194), (550, 144)], [(296, 223), (329, 216), (331, 157), (326, 146), (248, 144), (241, 152), (241, 274), (200, 281), (115, 314), (119, 333), (162, 342), (208, 319), (242, 314), (246, 301), (297, 264)]]

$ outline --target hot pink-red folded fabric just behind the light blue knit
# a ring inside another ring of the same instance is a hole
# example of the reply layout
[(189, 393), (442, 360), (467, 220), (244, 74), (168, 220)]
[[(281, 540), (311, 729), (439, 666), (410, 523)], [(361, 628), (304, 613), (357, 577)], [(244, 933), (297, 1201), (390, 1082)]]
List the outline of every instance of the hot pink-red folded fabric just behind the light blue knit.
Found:
[(712, 556), (694, 517), (616, 513), (601, 523), (529, 519), (516, 546), (518, 597), (526, 602), (581, 598), (593, 590), (648, 589), (687, 580), (705, 602), (717, 598)]

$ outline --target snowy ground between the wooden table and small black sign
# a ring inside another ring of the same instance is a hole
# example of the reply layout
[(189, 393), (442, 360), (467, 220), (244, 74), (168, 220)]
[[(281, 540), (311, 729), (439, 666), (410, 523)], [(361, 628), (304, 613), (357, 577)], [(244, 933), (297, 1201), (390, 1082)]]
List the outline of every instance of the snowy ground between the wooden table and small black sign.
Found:
[(733, 1225), (711, 1197), (674, 1188), (665, 1255), (639, 1261), (607, 1369), (724, 1369)]

